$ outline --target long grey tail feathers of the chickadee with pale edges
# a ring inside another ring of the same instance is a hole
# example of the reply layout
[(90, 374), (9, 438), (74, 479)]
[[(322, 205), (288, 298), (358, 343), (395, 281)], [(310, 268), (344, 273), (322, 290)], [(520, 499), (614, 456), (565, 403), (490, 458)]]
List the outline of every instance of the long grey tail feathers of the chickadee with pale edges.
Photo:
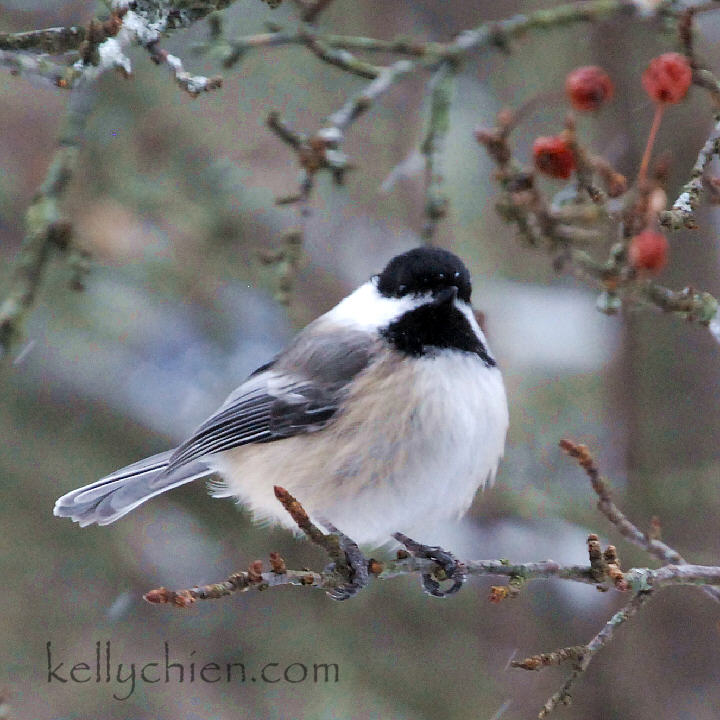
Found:
[(167, 473), (171, 455), (172, 451), (153, 455), (72, 490), (58, 498), (53, 512), (71, 518), (81, 527), (92, 523), (109, 525), (151, 497), (212, 473), (200, 461)]

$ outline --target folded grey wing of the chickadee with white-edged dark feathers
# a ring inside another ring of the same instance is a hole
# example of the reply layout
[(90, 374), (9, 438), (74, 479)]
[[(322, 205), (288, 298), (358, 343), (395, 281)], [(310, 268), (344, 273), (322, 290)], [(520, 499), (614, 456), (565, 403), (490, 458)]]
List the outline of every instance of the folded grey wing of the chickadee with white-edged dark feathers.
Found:
[(170, 457), (172, 472), (204, 455), (320, 430), (377, 350), (369, 333), (317, 320), (256, 370)]

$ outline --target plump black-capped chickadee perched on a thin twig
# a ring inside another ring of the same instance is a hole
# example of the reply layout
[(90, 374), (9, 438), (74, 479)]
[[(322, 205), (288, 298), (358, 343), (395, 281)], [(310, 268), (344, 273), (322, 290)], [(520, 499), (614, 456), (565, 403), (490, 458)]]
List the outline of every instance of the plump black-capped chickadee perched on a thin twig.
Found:
[(301, 331), (174, 450), (63, 495), (55, 515), (115, 522), (219, 476), (256, 519), (294, 527), (273, 492), (378, 547), (464, 513), (495, 476), (508, 410), (470, 307), (470, 274), (439, 248), (393, 258)]

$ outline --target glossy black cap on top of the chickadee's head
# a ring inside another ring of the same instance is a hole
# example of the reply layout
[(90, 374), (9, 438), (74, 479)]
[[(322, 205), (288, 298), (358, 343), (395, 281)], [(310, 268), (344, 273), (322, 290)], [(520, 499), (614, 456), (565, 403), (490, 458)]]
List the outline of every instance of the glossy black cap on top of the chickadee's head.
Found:
[(458, 297), (470, 302), (470, 273), (463, 261), (442, 248), (415, 248), (395, 256), (378, 276), (385, 297), (436, 294), (455, 286)]

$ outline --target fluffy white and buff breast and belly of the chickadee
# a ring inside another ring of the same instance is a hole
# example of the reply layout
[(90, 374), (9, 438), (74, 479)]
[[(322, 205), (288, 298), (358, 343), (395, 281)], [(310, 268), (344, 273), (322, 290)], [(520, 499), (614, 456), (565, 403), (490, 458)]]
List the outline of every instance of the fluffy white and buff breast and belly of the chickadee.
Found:
[(281, 485), (361, 544), (397, 531), (425, 541), (493, 480), (507, 426), (500, 372), (476, 355), (388, 353), (356, 378), (325, 429), (208, 460), (224, 478), (215, 494), (259, 518), (293, 526), (274, 497)]

